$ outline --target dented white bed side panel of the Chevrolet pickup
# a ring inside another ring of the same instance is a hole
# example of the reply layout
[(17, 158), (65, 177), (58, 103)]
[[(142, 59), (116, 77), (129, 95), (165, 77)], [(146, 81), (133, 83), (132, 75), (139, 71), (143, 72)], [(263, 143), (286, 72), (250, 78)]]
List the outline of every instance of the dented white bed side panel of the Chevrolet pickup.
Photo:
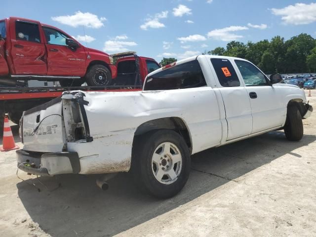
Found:
[(217, 100), (210, 87), (124, 93), (85, 92), (84, 100), (93, 141), (67, 144), (69, 152), (79, 155), (81, 174), (128, 171), (135, 131), (150, 120), (182, 119), (189, 129), (192, 153), (216, 146), (222, 138)]

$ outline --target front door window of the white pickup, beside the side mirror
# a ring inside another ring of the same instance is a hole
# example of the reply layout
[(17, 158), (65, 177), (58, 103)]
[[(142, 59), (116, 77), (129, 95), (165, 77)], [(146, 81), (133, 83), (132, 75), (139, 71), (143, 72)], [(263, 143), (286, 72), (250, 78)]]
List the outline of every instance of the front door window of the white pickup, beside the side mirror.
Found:
[(235, 60), (238, 70), (246, 86), (269, 85), (266, 76), (251, 63)]

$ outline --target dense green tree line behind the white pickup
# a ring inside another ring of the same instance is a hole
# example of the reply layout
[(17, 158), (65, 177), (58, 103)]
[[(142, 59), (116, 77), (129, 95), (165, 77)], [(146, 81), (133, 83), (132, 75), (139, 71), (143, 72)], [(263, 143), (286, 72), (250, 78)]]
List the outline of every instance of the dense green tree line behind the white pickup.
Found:
[[(203, 54), (244, 58), (257, 65), (266, 74), (273, 73), (315, 73), (316, 40), (307, 34), (284, 40), (276, 36), (258, 42), (246, 44), (231, 41), (224, 47), (216, 47)], [(161, 65), (176, 61), (175, 58), (163, 58)]]

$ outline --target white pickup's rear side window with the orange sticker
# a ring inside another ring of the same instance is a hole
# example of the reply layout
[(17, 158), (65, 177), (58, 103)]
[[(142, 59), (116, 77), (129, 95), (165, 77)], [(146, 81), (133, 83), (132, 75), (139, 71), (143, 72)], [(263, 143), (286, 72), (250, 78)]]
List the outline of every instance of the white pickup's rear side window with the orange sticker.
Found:
[(211, 58), (211, 63), (215, 69), (217, 78), (221, 86), (240, 86), (240, 81), (237, 77), (235, 69), (228, 59)]

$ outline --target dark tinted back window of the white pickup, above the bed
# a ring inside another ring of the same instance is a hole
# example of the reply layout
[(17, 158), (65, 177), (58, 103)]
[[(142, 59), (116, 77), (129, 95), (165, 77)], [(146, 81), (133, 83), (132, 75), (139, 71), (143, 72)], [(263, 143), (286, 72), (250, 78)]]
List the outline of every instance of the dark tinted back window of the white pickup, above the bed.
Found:
[(197, 60), (164, 69), (146, 80), (144, 90), (172, 90), (206, 86)]

